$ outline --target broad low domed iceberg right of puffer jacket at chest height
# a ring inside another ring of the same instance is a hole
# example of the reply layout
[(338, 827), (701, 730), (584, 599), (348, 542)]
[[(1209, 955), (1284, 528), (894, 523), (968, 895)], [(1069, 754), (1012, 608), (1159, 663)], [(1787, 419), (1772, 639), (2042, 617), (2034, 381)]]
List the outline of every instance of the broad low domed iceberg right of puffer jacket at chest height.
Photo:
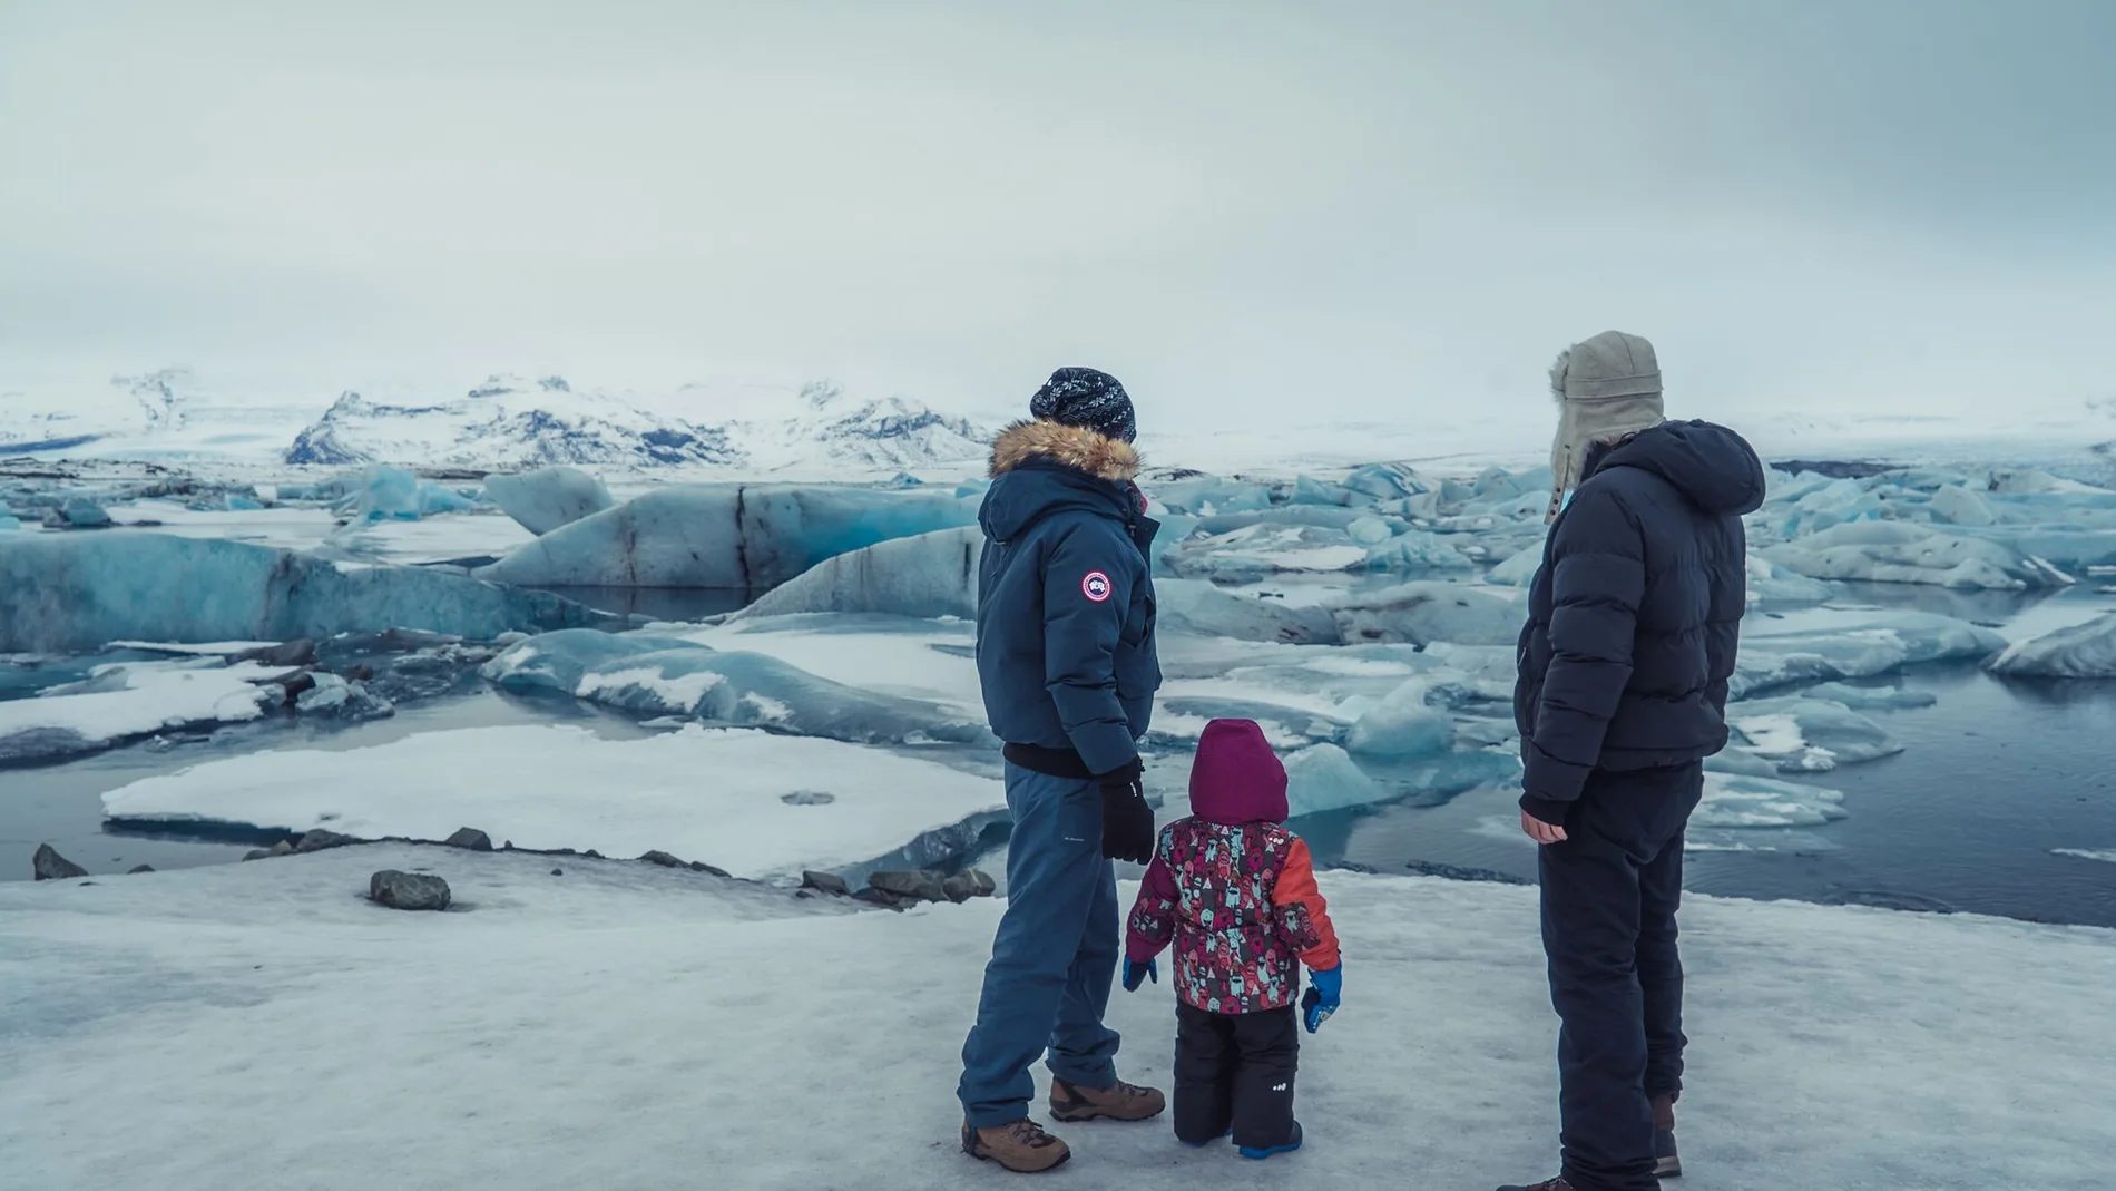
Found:
[(1873, 520), (1824, 529), (1761, 554), (1811, 580), (2025, 590), (2069, 586), (2072, 575), (2002, 542), (1947, 529)]

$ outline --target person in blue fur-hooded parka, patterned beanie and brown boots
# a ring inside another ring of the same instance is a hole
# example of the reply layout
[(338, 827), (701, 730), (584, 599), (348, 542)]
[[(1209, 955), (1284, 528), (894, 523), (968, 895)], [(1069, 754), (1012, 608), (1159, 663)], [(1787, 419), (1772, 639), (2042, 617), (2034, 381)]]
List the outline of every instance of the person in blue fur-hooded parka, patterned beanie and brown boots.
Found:
[(1145, 1121), (1151, 1087), (1117, 1079), (1102, 1024), (1119, 958), (1111, 859), (1153, 859), (1141, 787), (1162, 671), (1153, 654), (1153, 533), (1124, 385), (1060, 368), (1030, 419), (992, 444), (978, 523), (978, 679), (1005, 740), (1007, 912), (963, 1043), (963, 1151), (1016, 1172), (1071, 1157), (1028, 1117), (1045, 1056), (1060, 1121)]

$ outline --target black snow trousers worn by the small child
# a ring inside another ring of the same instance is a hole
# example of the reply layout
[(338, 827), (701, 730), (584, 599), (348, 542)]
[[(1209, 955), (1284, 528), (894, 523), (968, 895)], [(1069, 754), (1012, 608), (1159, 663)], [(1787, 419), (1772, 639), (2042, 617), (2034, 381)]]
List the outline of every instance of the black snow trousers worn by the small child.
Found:
[(1293, 1007), (1206, 1013), (1176, 1003), (1176, 1138), (1272, 1149), (1293, 1140), (1293, 1073), (1301, 1030)]

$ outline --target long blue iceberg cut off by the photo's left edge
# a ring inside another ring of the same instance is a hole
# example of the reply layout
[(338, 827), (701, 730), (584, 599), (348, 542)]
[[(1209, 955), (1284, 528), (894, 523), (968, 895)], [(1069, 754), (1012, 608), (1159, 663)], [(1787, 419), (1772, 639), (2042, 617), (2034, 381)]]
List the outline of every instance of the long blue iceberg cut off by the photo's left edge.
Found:
[(0, 539), (0, 652), (47, 654), (106, 641), (320, 641), (385, 628), (491, 641), (609, 620), (548, 592), (442, 571), (163, 533), (8, 535)]

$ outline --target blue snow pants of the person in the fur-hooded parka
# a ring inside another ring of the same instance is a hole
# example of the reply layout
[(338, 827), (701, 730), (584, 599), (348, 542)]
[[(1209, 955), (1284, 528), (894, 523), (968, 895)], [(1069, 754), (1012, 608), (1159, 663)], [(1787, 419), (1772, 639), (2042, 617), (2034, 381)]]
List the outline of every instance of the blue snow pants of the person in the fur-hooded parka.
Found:
[(1102, 857), (1102, 791), (1007, 764), (1007, 912), (984, 967), (956, 1096), (971, 1125), (1020, 1121), (1037, 1056), (1077, 1087), (1117, 1083), (1102, 1024), (1121, 950), (1117, 876)]

